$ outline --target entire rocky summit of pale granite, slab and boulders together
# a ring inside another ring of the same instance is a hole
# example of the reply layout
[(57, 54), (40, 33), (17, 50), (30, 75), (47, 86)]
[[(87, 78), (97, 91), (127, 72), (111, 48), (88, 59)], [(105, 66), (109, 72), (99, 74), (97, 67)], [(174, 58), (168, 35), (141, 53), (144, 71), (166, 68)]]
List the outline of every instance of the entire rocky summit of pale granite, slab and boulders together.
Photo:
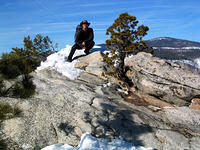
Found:
[[(80, 66), (91, 55), (98, 61)], [(80, 58), (76, 67), (83, 71), (76, 80), (45, 68), (32, 73), (36, 85), (33, 97), (0, 98), (22, 110), (20, 117), (2, 123), (0, 133), (10, 150), (38, 150), (57, 143), (77, 146), (85, 132), (98, 138), (122, 136), (136, 146), (159, 150), (200, 149), (200, 110), (182, 106), (198, 96), (198, 75), (139, 53), (126, 62), (135, 86), (127, 97), (141, 104), (137, 105), (125, 101), (117, 83), (99, 76), (103, 70), (100, 57), (101, 53), (94, 52)], [(149, 97), (163, 105), (144, 105)]]

